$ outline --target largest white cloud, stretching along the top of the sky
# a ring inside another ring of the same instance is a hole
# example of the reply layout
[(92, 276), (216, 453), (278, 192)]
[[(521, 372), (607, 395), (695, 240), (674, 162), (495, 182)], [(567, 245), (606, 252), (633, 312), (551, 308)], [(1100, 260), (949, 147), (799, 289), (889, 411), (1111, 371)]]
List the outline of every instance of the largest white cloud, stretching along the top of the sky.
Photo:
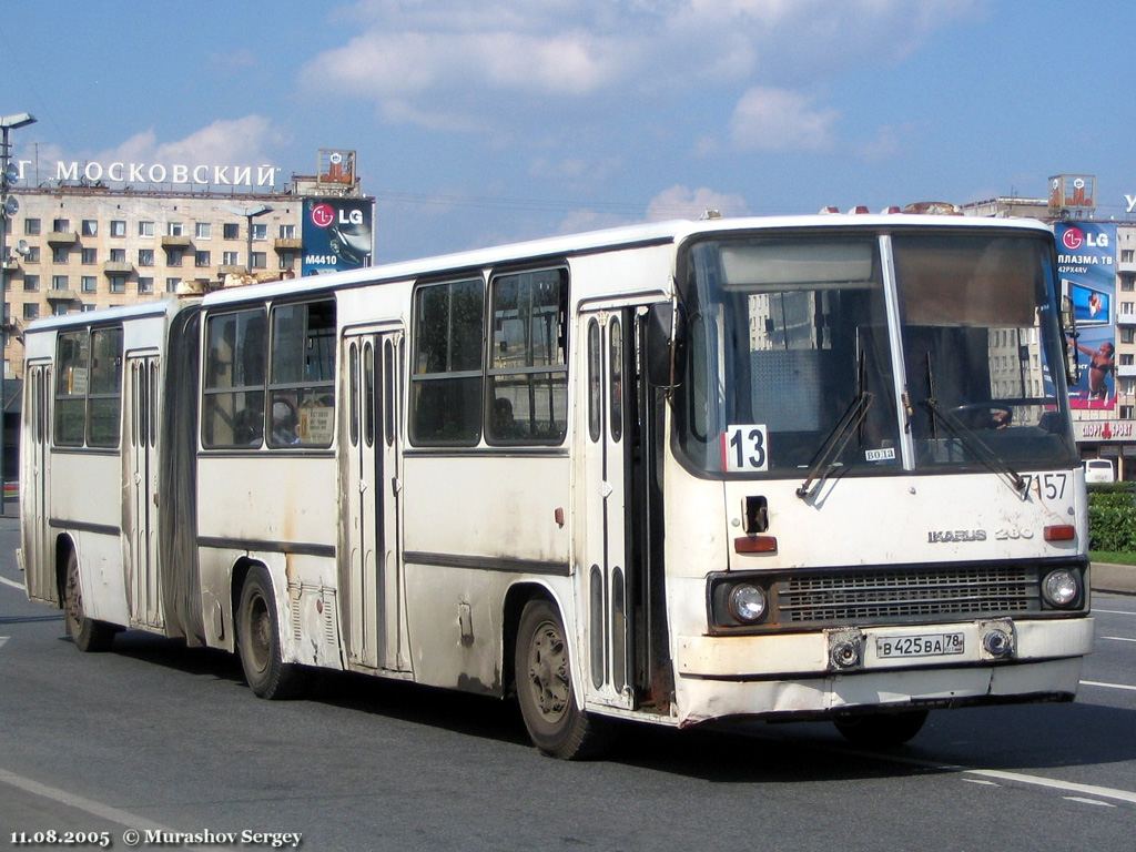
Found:
[(309, 93), (371, 101), (395, 123), (500, 127), (532, 116), (524, 102), (510, 115), (510, 97), (570, 107), (786, 81), (816, 89), (849, 64), (904, 56), (975, 9), (978, 0), (359, 0), (334, 16), (353, 35), (300, 81)]

